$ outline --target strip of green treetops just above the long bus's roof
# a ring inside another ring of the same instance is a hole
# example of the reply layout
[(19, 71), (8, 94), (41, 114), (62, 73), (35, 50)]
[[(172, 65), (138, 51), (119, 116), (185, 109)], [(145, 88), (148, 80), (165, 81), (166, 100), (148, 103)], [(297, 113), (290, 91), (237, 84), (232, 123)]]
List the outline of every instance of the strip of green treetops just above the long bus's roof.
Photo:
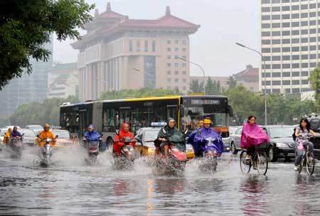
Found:
[(168, 95), (179, 95), (176, 90), (150, 89), (147, 87), (139, 90), (120, 90), (111, 92), (101, 92), (100, 99), (124, 99), (128, 97), (159, 97)]

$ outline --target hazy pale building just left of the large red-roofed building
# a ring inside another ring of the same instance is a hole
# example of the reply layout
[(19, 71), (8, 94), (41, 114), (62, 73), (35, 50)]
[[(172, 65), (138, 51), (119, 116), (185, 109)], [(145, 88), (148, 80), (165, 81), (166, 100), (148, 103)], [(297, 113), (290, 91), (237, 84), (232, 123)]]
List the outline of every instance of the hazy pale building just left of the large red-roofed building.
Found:
[(79, 97), (79, 77), (76, 63), (55, 65), (48, 74), (48, 98)]

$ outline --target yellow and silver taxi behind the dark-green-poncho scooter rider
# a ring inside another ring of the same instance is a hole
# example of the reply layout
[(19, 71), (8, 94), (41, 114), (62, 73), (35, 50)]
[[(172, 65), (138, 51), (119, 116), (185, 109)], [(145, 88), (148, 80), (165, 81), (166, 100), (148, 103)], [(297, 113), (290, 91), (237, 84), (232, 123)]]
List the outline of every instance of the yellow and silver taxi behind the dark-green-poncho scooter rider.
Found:
[[(151, 156), (154, 154), (154, 140), (158, 136), (160, 127), (144, 127), (137, 131), (135, 138), (137, 139), (137, 152), (141, 156)], [(193, 147), (186, 144), (186, 156), (188, 159), (194, 158)]]

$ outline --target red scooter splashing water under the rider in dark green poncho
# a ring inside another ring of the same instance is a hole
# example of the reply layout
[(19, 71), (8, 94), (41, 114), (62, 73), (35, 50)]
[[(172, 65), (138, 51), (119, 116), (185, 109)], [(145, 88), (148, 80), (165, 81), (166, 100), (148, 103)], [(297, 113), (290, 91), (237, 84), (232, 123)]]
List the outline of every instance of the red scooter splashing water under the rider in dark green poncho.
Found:
[[(164, 134), (166, 131), (162, 129)], [(159, 160), (156, 161), (156, 167), (160, 172), (164, 173), (179, 173), (183, 172), (186, 168), (186, 134), (176, 134), (174, 136), (162, 137), (166, 139), (169, 145), (169, 158), (166, 158), (164, 147), (160, 148)]]

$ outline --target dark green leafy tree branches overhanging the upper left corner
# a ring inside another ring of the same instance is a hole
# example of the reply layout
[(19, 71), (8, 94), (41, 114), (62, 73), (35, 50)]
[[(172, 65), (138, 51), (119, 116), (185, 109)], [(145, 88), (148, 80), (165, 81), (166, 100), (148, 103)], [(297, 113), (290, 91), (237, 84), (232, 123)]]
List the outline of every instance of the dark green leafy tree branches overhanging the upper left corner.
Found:
[(85, 0), (0, 1), (0, 90), (9, 80), (30, 74), (29, 58), (47, 61), (43, 48), (55, 32), (59, 41), (80, 39), (76, 28), (90, 21), (94, 5)]

